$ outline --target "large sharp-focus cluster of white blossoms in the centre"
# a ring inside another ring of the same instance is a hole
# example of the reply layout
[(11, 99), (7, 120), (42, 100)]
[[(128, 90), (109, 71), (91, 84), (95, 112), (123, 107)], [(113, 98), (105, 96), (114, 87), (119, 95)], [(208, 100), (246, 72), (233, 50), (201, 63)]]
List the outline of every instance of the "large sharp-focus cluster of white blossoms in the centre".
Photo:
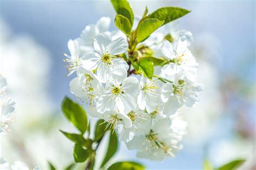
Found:
[[(90, 116), (104, 119), (119, 140), (138, 150), (138, 157), (174, 157), (186, 133), (181, 107), (198, 103), (202, 90), (198, 63), (188, 49), (192, 34), (175, 21), (134, 45), (122, 32), (108, 31), (109, 25), (110, 18), (100, 18), (69, 40), (64, 61), (68, 75), (76, 73), (70, 91), (87, 103)], [(147, 62), (154, 67), (152, 76), (150, 65), (143, 66)]]

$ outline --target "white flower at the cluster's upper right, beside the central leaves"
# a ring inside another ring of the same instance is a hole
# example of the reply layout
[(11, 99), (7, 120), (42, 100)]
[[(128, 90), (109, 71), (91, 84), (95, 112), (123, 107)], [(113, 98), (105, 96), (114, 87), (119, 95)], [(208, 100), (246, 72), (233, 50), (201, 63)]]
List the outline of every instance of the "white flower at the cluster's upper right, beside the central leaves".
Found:
[(179, 39), (176, 46), (173, 46), (171, 42), (164, 40), (161, 51), (166, 58), (170, 59), (170, 63), (161, 69), (163, 73), (173, 76), (183, 71), (187, 79), (194, 81), (198, 63), (187, 48), (186, 41)]

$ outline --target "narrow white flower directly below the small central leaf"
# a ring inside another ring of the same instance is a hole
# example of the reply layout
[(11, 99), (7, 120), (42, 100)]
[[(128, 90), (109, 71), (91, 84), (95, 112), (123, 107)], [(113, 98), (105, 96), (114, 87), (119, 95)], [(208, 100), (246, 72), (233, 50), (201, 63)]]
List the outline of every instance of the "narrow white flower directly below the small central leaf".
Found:
[(139, 109), (146, 109), (149, 113), (156, 109), (157, 101), (160, 99), (158, 81), (146, 79), (144, 75), (140, 77), (141, 90), (137, 100)]

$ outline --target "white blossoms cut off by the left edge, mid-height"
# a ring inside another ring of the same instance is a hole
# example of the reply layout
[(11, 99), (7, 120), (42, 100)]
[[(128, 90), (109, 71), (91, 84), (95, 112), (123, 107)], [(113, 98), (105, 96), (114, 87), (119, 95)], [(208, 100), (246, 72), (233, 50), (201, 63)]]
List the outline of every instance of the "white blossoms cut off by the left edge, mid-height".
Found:
[(9, 124), (14, 121), (15, 102), (6, 95), (6, 85), (6, 79), (0, 75), (0, 134), (7, 134), (9, 132)]

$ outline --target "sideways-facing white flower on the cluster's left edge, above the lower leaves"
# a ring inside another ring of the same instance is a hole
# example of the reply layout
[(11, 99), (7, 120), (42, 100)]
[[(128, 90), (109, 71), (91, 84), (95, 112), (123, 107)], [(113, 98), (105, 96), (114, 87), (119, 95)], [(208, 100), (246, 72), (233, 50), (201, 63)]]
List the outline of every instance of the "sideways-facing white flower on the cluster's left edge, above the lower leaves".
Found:
[(69, 86), (72, 94), (90, 105), (96, 104), (102, 89), (97, 75), (84, 68), (79, 69), (78, 77), (71, 80)]

